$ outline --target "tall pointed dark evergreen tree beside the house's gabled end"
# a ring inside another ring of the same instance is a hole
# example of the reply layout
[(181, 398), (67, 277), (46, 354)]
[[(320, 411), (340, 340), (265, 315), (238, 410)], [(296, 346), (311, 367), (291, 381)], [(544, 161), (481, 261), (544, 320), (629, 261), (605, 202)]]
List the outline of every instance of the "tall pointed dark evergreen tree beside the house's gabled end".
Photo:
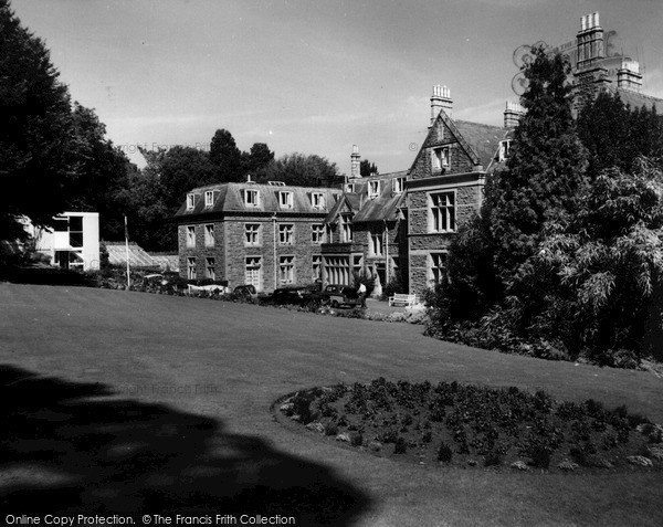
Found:
[(587, 155), (566, 84), (569, 64), (544, 48), (534, 55), (524, 71), (529, 82), (522, 97), (526, 114), (515, 129), (507, 168), (486, 186), (497, 273), (511, 284), (535, 253), (546, 222), (565, 221), (577, 210), (586, 181)]

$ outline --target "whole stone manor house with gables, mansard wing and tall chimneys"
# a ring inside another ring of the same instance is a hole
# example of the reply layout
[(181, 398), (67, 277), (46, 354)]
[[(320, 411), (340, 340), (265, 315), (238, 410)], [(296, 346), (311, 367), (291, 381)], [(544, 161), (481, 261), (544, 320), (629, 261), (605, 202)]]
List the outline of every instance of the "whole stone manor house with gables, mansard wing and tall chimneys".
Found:
[[(582, 17), (575, 48), (562, 50), (576, 99), (608, 89), (631, 107), (663, 107), (640, 93), (638, 62), (608, 48), (598, 13)], [(507, 102), (504, 126), (488, 126), (454, 119), (446, 86), (434, 86), (430, 101), (429, 131), (408, 170), (361, 177), (354, 146), (343, 189), (277, 181), (192, 189), (176, 214), (180, 272), (260, 291), (318, 278), (354, 284), (358, 275), (382, 285), (398, 278), (417, 294), (434, 285), (459, 224), (478, 211), (486, 178), (507, 158), (523, 110)]]

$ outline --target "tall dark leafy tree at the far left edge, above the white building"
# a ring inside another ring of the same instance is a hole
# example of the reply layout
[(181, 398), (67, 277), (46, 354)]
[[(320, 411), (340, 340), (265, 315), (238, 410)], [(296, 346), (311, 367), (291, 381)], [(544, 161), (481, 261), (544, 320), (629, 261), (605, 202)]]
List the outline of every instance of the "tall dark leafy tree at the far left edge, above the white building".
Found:
[(0, 240), (25, 239), (19, 220), (52, 225), (72, 171), (67, 87), (44, 43), (0, 0)]

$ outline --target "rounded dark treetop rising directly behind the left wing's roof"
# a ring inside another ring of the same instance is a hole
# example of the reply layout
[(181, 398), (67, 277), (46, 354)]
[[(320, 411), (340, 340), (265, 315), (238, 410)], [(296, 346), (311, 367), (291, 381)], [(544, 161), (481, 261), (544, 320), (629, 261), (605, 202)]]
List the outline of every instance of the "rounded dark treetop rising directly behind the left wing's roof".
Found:
[(256, 181), (283, 181), (286, 185), (303, 187), (328, 187), (336, 182), (338, 168), (335, 162), (316, 155), (288, 154), (285, 155), (256, 175)]

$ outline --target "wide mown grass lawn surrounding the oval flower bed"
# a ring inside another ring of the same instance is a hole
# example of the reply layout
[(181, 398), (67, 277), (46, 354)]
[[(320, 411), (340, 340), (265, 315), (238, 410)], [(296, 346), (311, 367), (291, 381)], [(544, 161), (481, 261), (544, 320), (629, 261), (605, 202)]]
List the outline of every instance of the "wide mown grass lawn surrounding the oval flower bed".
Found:
[(663, 525), (661, 472), (417, 466), (320, 441), (271, 414), (285, 393), (381, 376), (544, 389), (625, 404), (663, 423), (663, 381), (651, 373), (488, 352), (421, 331), (186, 297), (0, 284), (0, 517)]

